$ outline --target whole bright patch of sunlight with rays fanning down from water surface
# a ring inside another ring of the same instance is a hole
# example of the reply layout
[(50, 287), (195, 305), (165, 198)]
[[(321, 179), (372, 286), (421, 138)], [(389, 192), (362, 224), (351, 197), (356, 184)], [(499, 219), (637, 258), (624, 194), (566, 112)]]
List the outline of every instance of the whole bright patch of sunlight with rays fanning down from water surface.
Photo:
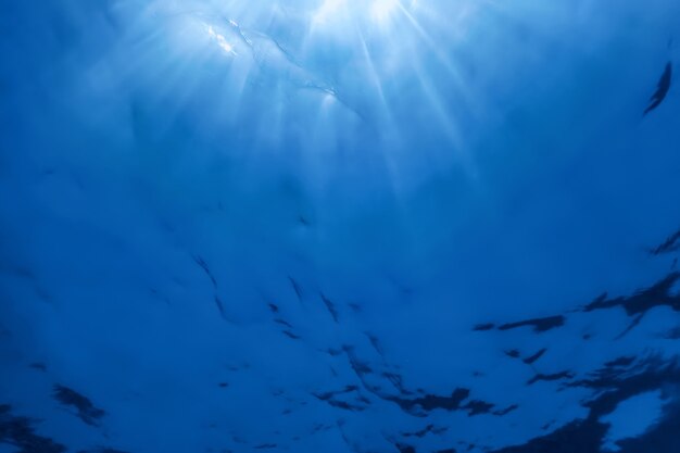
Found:
[[(298, 0), (286, 8), (230, 0), (223, 9), (168, 11), (172, 43), (187, 58), (174, 76), (193, 84), (187, 92), (211, 87), (215, 117), (206, 128), (226, 124), (247, 137), (279, 130), (262, 140), (272, 149), (314, 124), (325, 143), (354, 143), (353, 134), (389, 143), (393, 154), (380, 158), (392, 166), (408, 159), (401, 143), (425, 125), (438, 143), (432, 155), (471, 168), (461, 118), (481, 108), (455, 50), (478, 8), (477, 0)], [(197, 64), (207, 71), (187, 77)]]

